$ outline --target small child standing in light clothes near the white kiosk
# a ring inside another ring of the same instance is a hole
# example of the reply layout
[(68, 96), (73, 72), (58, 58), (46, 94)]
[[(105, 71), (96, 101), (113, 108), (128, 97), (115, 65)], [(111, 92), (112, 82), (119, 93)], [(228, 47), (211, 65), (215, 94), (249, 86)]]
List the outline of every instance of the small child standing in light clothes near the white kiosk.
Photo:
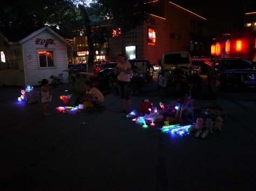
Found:
[(41, 80), (41, 102), (43, 103), (44, 116), (50, 116), (48, 112), (48, 104), (51, 101), (51, 94), (49, 91), (49, 83), (47, 79)]

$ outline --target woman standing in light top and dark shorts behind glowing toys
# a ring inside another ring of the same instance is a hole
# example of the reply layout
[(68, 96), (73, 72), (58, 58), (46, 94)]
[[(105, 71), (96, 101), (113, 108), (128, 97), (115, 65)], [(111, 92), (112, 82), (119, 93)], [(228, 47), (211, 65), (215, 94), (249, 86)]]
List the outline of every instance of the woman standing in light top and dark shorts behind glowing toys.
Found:
[(117, 67), (115, 74), (118, 74), (118, 90), (121, 98), (121, 112), (126, 113), (126, 100), (128, 102), (128, 111), (131, 110), (132, 101), (130, 100), (130, 70), (131, 65), (126, 61), (126, 55), (123, 52), (117, 54)]

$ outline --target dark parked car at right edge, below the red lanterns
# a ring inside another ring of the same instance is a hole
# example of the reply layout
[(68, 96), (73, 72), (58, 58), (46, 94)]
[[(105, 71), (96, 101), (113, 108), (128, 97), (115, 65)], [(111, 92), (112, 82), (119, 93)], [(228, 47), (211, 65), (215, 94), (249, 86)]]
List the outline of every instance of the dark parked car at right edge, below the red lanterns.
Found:
[(209, 72), (217, 75), (219, 87), (224, 90), (228, 86), (256, 87), (256, 66), (244, 58), (222, 58), (216, 60), (215, 66)]

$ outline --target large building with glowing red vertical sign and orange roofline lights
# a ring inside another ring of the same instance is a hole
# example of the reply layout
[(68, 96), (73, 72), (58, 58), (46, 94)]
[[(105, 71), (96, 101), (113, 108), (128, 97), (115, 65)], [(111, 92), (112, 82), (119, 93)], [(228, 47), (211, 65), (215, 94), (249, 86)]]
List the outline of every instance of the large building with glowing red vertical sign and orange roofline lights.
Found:
[(125, 52), (127, 59), (148, 58), (158, 63), (164, 52), (188, 51), (191, 55), (210, 51), (204, 38), (205, 18), (167, 0), (153, 1), (153, 12), (142, 26), (108, 39), (110, 61), (116, 52)]

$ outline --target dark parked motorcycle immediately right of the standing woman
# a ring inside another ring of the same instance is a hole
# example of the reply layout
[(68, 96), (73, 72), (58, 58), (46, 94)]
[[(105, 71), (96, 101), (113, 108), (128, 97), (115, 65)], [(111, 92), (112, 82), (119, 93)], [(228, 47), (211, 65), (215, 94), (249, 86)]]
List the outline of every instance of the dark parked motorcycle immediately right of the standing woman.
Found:
[(146, 82), (145, 74), (138, 72), (137, 69), (132, 69), (130, 71), (130, 87), (131, 94), (134, 95), (137, 92), (141, 92), (143, 83)]

